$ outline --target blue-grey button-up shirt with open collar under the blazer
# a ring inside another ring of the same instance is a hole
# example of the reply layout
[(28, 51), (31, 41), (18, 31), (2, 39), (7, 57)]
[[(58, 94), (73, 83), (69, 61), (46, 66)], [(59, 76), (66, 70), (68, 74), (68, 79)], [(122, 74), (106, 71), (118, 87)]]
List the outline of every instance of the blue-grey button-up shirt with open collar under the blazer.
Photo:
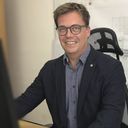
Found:
[(64, 65), (66, 66), (66, 111), (68, 125), (67, 128), (77, 128), (77, 102), (78, 102), (78, 89), (82, 77), (82, 72), (86, 59), (90, 53), (90, 46), (79, 58), (76, 70), (72, 69), (68, 63), (68, 57), (64, 55)]

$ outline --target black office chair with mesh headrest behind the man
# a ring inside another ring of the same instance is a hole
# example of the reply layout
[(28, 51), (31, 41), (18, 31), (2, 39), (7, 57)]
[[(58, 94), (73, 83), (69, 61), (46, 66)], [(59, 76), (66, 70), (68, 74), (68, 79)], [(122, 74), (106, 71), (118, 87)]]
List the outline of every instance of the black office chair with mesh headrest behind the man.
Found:
[[(118, 60), (119, 60), (119, 56), (123, 55), (123, 51), (121, 50), (118, 44), (116, 33), (110, 28), (92, 29), (88, 42), (92, 45), (94, 49), (98, 51), (115, 54)], [(125, 97), (126, 97), (126, 106), (128, 110), (127, 86), (125, 86), (124, 89), (125, 89)], [(128, 126), (122, 122), (121, 128), (128, 128)]]

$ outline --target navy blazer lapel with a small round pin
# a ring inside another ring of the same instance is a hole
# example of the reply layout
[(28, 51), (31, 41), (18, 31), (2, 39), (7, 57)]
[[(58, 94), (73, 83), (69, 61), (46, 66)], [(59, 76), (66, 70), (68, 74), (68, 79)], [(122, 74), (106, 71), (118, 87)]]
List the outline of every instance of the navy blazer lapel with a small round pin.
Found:
[(91, 78), (93, 77), (93, 72), (95, 71), (95, 66), (96, 66), (95, 58), (96, 58), (95, 51), (91, 48), (90, 54), (84, 66), (83, 75), (81, 78), (81, 83), (79, 88), (78, 106), (77, 106), (78, 118), (88, 91), (89, 83), (91, 81)]

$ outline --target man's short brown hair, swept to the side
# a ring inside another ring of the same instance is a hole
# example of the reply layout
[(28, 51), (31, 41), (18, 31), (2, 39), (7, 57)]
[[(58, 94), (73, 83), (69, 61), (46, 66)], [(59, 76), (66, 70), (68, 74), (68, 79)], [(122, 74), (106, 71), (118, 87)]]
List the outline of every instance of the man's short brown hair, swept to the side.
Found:
[(85, 25), (89, 26), (90, 14), (89, 14), (88, 10), (86, 9), (86, 7), (83, 4), (69, 2), (69, 3), (60, 5), (59, 7), (57, 7), (55, 9), (54, 22), (55, 22), (56, 27), (58, 27), (59, 16), (69, 13), (69, 12), (73, 12), (73, 11), (78, 12), (81, 15), (81, 17), (83, 18)]

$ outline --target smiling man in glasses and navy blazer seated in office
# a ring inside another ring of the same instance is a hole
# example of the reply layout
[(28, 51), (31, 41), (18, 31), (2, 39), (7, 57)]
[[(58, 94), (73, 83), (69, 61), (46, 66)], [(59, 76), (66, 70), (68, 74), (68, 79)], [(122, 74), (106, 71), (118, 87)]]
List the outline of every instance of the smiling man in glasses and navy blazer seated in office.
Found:
[(125, 76), (121, 63), (88, 44), (90, 15), (78, 3), (54, 11), (65, 54), (48, 61), (35, 81), (16, 100), (22, 117), (44, 99), (52, 128), (120, 128)]

